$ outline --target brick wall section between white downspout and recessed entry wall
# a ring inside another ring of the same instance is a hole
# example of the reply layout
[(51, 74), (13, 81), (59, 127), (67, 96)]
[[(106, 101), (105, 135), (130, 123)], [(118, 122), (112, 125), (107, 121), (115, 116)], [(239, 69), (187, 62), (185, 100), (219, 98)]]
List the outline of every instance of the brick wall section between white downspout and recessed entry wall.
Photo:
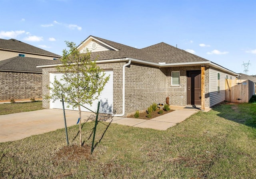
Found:
[[(165, 69), (164, 69), (165, 73)], [(166, 101), (166, 75), (158, 67), (132, 63), (126, 68), (125, 114)]]

